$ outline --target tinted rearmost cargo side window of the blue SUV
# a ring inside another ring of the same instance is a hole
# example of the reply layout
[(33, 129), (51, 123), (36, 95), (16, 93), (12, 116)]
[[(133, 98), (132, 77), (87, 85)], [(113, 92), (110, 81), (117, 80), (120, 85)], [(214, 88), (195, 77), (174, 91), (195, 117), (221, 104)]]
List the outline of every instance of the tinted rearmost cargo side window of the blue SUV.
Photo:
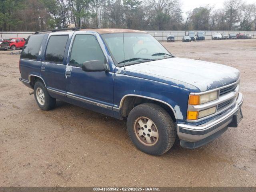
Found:
[(21, 58), (37, 59), (44, 34), (29, 36), (22, 50)]

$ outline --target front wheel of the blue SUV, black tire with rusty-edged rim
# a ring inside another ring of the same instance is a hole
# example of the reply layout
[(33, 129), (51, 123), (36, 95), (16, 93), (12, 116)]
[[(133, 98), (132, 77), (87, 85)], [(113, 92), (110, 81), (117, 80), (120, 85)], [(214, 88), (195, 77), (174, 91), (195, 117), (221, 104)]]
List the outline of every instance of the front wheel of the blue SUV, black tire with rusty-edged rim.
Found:
[[(153, 124), (147, 127), (149, 120)], [(152, 103), (140, 104), (130, 111), (127, 118), (127, 131), (139, 150), (156, 156), (170, 150), (176, 138), (176, 128), (170, 115), (162, 107)], [(157, 137), (150, 136), (150, 134), (153, 135), (153, 132)], [(148, 140), (151, 144), (148, 143)]]

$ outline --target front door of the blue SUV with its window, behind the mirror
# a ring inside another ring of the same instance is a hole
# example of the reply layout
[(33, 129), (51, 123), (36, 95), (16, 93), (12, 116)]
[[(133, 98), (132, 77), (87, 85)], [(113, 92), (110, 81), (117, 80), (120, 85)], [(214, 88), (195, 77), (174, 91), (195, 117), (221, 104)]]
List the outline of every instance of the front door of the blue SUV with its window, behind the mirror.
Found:
[(112, 116), (114, 74), (83, 71), (82, 64), (91, 60), (107, 63), (96, 36), (76, 34), (66, 66), (67, 97), (74, 104)]

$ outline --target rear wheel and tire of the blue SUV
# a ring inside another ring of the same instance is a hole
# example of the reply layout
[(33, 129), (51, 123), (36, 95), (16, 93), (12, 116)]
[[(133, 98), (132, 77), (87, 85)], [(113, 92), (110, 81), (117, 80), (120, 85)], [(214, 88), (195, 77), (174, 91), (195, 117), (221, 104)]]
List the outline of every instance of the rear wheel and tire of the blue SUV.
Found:
[(36, 81), (34, 85), (34, 97), (38, 106), (45, 111), (53, 109), (56, 104), (56, 99), (48, 94), (48, 91), (41, 80)]

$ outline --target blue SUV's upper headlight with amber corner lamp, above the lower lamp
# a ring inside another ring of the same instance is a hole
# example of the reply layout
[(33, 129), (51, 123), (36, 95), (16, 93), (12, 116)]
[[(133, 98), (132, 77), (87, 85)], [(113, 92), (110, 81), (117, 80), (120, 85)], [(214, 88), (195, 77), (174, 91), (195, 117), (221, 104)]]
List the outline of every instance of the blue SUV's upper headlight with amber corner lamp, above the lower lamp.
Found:
[(199, 105), (203, 103), (207, 103), (218, 98), (218, 91), (206, 93), (203, 95), (190, 95), (188, 104), (190, 105)]

